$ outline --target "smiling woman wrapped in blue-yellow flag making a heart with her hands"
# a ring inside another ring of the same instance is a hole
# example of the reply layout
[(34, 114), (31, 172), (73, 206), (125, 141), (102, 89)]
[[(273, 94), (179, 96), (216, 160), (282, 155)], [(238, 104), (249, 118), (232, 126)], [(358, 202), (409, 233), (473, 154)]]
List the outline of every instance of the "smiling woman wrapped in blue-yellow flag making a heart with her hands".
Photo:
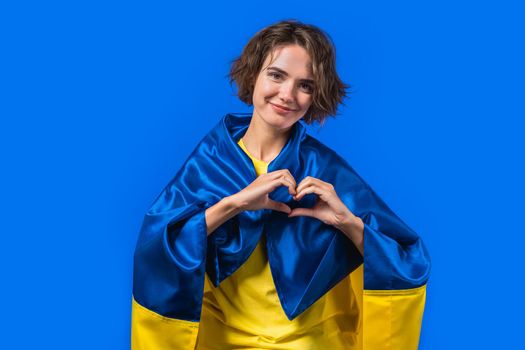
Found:
[(223, 117), (146, 214), (132, 347), (416, 349), (421, 239), (300, 122), (345, 97), (329, 37), (271, 25), (230, 77), (253, 114)]

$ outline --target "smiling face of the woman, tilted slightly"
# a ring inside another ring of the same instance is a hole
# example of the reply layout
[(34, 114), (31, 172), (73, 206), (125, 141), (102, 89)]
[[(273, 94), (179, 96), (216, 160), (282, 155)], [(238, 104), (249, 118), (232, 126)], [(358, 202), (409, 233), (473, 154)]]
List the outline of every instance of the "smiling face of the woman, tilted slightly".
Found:
[(268, 55), (253, 90), (254, 117), (277, 130), (287, 130), (312, 104), (314, 82), (310, 56), (301, 46), (286, 45)]

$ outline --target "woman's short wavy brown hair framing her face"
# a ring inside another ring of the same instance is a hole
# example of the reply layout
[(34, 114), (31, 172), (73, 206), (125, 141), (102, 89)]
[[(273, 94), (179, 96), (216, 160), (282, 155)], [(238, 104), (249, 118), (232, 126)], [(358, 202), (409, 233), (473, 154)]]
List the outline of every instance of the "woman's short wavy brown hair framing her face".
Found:
[(341, 81), (335, 65), (335, 45), (320, 28), (297, 20), (284, 20), (257, 32), (244, 47), (241, 55), (232, 61), (230, 84), (237, 83), (239, 99), (253, 105), (255, 80), (268, 54), (282, 45), (296, 44), (304, 48), (312, 60), (315, 82), (312, 105), (304, 115), (307, 124), (321, 125), (328, 116), (335, 116), (337, 106), (343, 103), (350, 88)]

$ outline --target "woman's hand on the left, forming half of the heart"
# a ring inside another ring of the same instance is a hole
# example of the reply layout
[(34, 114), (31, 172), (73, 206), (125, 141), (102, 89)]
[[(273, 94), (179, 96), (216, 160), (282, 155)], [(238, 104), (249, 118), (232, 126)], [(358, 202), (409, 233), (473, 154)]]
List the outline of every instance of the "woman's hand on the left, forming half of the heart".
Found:
[(281, 169), (259, 175), (251, 184), (231, 196), (241, 210), (272, 209), (286, 214), (289, 206), (270, 199), (269, 194), (279, 186), (288, 187), (290, 195), (296, 195), (297, 184), (288, 169)]

